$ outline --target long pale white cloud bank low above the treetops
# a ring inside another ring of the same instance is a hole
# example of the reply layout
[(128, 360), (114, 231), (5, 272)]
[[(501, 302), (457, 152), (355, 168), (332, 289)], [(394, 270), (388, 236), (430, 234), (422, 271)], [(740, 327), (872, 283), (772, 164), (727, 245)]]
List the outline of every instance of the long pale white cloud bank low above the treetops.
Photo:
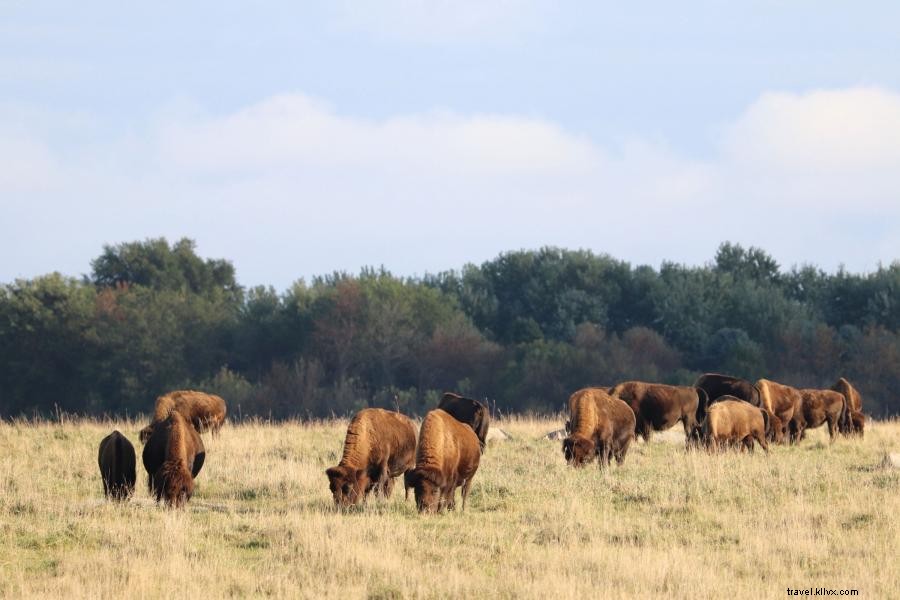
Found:
[[(246, 283), (279, 287), (547, 244), (658, 264), (700, 263), (730, 240), (788, 265), (862, 270), (897, 258), (900, 240), (900, 96), (886, 90), (762, 95), (702, 161), (656, 141), (603, 146), (534, 117), (371, 120), (300, 94), (225, 116), (164, 112), (146, 136), (74, 148), (54, 138), (71, 119), (32, 117), (10, 129), (0, 110), (0, 132), (15, 131), (0, 144), (15, 165), (0, 203), (21, 223), (0, 253), (33, 249), (7, 269), (37, 261), (0, 281), (82, 272), (103, 243), (158, 235), (193, 237)], [(90, 120), (75, 122), (85, 139)]]

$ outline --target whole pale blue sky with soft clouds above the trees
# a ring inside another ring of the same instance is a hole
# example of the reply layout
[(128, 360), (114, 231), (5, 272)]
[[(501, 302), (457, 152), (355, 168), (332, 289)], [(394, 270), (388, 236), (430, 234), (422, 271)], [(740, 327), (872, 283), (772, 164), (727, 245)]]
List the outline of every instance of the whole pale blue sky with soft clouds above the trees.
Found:
[(0, 0), (0, 282), (157, 236), (279, 289), (900, 258), (897, 3), (182, 4)]

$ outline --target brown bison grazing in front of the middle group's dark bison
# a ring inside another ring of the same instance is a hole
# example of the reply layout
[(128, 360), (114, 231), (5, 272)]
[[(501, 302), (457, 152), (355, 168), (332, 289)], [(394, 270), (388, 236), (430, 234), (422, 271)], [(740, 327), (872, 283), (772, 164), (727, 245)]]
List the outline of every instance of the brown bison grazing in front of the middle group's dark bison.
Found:
[(419, 512), (453, 509), (460, 486), (465, 510), (480, 459), (481, 445), (471, 427), (440, 408), (425, 415), (419, 430), (416, 468), (404, 477), (406, 486), (413, 488)]

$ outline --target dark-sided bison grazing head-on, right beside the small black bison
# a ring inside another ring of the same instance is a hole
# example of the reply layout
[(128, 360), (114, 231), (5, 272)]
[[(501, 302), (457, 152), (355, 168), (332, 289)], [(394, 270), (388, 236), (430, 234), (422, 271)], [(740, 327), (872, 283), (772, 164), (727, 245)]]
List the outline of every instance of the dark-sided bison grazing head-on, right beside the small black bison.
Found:
[(153, 428), (142, 459), (150, 493), (157, 502), (178, 507), (194, 494), (194, 478), (203, 468), (206, 450), (197, 430), (173, 410)]

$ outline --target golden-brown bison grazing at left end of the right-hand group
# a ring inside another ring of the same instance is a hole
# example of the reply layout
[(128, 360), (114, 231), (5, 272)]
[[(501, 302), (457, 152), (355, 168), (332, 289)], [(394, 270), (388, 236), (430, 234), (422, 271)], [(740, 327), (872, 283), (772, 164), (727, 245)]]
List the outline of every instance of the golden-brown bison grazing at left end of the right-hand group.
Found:
[(566, 462), (580, 467), (598, 457), (600, 468), (622, 464), (634, 438), (634, 411), (606, 390), (586, 388), (569, 398), (571, 433), (563, 440)]

